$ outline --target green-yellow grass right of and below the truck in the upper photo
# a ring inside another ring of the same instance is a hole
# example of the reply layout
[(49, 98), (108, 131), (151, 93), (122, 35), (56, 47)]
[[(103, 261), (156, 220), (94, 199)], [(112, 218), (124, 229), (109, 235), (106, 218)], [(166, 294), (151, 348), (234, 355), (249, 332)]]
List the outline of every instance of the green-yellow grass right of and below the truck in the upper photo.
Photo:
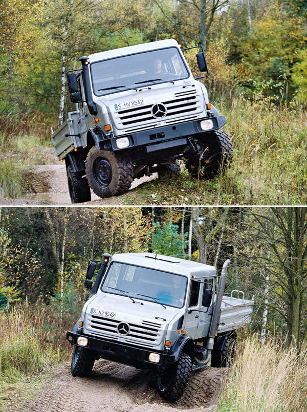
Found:
[(233, 98), (216, 102), (233, 142), (230, 167), (212, 180), (178, 178), (142, 184), (123, 204), (294, 205), (307, 203), (307, 112)]

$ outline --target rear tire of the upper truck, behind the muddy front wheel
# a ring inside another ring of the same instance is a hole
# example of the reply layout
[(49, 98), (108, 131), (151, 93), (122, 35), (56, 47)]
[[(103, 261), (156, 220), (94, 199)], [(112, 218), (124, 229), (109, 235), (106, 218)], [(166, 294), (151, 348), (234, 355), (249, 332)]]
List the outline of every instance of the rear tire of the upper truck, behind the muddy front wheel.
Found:
[[(74, 171), (71, 165), (67, 166), (68, 190), (72, 203), (91, 201), (91, 189), (83, 171)], [(83, 177), (82, 177), (83, 176)]]

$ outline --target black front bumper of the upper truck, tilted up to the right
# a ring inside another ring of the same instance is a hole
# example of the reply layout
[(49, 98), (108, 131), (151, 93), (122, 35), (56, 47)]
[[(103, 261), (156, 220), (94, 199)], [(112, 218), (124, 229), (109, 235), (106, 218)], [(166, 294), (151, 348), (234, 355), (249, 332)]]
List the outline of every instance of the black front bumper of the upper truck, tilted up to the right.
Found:
[[(200, 126), (200, 122), (202, 120), (212, 120), (213, 128), (204, 132)], [(171, 124), (169, 126), (157, 127), (141, 132), (116, 136), (111, 138), (108, 142), (103, 140), (100, 141), (99, 146), (101, 149), (113, 151), (143, 148), (145, 153), (150, 156), (160, 150), (174, 148), (178, 148), (180, 150), (188, 144), (188, 137), (198, 136), (199, 138), (201, 138), (202, 135), (206, 135), (216, 129), (220, 129), (225, 124), (225, 116), (208, 117), (206, 119), (192, 120), (177, 124)], [(119, 149), (117, 147), (116, 140), (121, 137), (128, 137), (130, 143), (129, 147), (126, 147), (124, 149)]]

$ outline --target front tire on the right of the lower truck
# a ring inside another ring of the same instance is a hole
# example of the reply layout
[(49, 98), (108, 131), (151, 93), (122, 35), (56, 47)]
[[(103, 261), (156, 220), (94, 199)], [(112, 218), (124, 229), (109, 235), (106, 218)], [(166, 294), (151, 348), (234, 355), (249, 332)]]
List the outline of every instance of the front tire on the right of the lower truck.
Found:
[(176, 364), (167, 366), (158, 376), (158, 392), (169, 401), (176, 402), (183, 395), (192, 372), (192, 361), (189, 355), (182, 353)]

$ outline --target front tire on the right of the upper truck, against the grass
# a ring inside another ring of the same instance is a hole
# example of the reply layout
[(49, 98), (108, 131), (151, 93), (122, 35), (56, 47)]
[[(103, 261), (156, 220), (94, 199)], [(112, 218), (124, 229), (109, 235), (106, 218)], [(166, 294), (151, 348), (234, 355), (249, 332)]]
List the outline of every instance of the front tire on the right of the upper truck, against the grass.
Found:
[(195, 178), (213, 179), (228, 164), (232, 142), (223, 129), (208, 134), (206, 140), (192, 139), (196, 153), (187, 154), (185, 166)]

